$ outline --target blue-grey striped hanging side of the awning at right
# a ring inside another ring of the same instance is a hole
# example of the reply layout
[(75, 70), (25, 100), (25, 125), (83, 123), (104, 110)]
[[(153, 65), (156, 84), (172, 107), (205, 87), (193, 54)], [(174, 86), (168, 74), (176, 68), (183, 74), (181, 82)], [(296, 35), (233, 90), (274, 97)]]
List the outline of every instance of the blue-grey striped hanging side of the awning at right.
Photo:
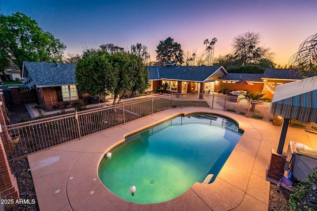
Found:
[(273, 102), (270, 114), (317, 123), (317, 90)]

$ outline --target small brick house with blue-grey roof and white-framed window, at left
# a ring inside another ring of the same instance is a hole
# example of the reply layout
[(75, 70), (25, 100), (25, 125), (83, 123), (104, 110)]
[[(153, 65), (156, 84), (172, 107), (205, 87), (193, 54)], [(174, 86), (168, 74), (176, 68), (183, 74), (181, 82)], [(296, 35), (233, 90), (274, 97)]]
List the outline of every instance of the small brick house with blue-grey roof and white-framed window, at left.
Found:
[(84, 95), (76, 87), (75, 67), (76, 64), (23, 61), (22, 82), (36, 89), (39, 103), (46, 108), (84, 102)]

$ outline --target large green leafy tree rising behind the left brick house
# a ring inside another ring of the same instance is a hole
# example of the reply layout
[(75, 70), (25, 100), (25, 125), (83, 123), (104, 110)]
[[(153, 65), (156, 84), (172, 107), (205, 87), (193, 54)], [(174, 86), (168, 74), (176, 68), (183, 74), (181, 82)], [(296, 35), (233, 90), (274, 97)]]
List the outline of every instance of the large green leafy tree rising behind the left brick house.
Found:
[(66, 46), (21, 12), (0, 15), (0, 52), (22, 69), (23, 61), (60, 62)]

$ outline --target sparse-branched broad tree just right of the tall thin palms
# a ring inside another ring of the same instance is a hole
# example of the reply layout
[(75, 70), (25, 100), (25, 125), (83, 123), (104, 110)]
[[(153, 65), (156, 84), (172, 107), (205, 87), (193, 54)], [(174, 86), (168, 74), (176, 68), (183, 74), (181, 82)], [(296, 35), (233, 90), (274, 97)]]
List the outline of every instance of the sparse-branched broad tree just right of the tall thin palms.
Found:
[(242, 59), (242, 64), (259, 64), (261, 60), (272, 60), (274, 53), (261, 44), (260, 33), (247, 31), (233, 38), (232, 43), (236, 59)]

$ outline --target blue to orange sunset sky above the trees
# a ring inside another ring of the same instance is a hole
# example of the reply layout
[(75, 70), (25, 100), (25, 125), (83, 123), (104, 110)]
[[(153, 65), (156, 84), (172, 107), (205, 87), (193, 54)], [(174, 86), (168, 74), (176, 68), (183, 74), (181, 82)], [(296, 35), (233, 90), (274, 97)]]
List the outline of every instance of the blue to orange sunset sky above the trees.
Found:
[(152, 61), (167, 37), (196, 53), (215, 37), (217, 57), (232, 51), (235, 36), (254, 31), (275, 53), (274, 62), (285, 65), (317, 33), (316, 0), (1, 0), (0, 12), (30, 16), (67, 46), (65, 54), (142, 43)]

